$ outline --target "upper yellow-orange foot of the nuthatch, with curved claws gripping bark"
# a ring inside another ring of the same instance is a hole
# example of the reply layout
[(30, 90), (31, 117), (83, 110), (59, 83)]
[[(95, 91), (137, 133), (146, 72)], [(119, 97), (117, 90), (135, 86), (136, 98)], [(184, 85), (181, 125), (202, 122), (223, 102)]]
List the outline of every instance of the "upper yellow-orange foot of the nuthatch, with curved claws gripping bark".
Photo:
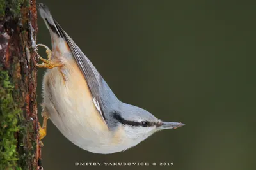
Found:
[(54, 68), (54, 67), (61, 67), (61, 66), (63, 66), (63, 64), (52, 62), (52, 60), (51, 60), (52, 51), (50, 50), (50, 48), (48, 48), (48, 46), (43, 45), (43, 44), (38, 44), (37, 46), (43, 46), (44, 48), (46, 48), (46, 53), (47, 53), (47, 60), (44, 59), (43, 57), (41, 57), (40, 55), (38, 55), (38, 56), (39, 56), (39, 59), (40, 59), (43, 63), (42, 63), (42, 64), (36, 63), (36, 66), (37, 66), (37, 67), (52, 69), (52, 68)]

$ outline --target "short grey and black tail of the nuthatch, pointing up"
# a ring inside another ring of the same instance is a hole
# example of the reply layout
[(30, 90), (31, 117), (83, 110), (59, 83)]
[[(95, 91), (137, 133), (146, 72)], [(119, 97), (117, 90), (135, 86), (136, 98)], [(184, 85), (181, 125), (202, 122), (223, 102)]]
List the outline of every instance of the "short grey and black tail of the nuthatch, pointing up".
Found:
[(47, 25), (47, 28), (49, 29), (49, 31), (52, 31), (56, 33), (58, 36), (60, 36), (60, 31), (56, 26), (56, 21), (52, 17), (49, 8), (44, 3), (40, 3), (38, 4), (38, 11), (41, 17), (43, 18), (45, 24)]

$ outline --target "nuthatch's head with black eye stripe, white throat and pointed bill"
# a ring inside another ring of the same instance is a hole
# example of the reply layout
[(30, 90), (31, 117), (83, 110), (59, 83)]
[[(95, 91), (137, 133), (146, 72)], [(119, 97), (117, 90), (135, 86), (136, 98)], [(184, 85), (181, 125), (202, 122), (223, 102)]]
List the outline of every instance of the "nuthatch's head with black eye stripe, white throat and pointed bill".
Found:
[(142, 108), (124, 104), (112, 113), (112, 127), (118, 129), (118, 134), (124, 139), (123, 143), (135, 146), (163, 129), (176, 129), (184, 124), (164, 122)]

